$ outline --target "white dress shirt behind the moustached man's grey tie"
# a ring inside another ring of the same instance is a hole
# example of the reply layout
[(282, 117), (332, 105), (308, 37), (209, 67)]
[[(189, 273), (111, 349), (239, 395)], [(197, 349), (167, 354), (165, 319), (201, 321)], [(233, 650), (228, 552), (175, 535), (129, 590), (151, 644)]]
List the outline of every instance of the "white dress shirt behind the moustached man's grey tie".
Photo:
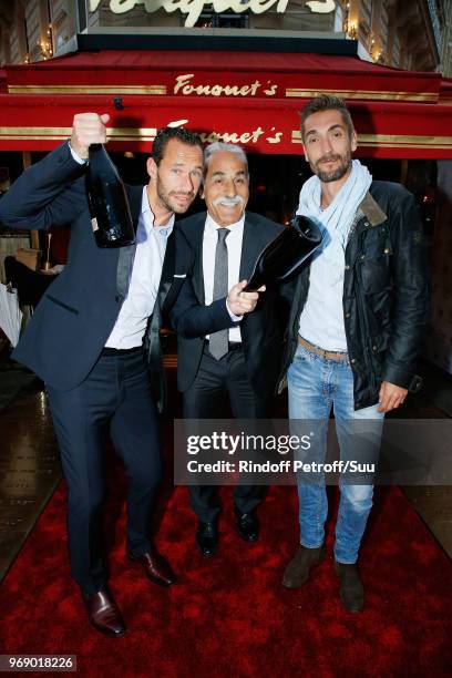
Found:
[[(240, 260), (242, 260), (242, 242), (244, 237), (245, 214), (239, 222), (230, 224), (226, 228), (230, 230), (226, 238), (227, 247), (227, 289), (240, 280)], [(214, 276), (215, 276), (215, 251), (218, 243), (218, 228), (222, 228), (214, 222), (209, 214), (206, 217), (203, 238), (203, 274), (204, 274), (204, 300), (207, 306), (213, 301), (214, 296)], [(227, 307), (227, 305), (226, 305)], [(242, 317), (234, 316), (228, 309), (233, 320), (240, 320)], [(206, 339), (209, 335), (206, 336)], [(242, 341), (240, 328), (233, 327), (229, 329), (229, 341)]]

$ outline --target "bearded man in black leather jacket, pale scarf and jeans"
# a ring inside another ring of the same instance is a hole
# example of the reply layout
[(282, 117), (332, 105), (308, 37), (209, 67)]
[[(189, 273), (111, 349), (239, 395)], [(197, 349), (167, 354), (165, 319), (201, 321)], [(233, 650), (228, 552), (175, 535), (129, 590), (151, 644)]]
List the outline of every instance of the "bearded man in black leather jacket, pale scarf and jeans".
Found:
[[(413, 196), (399, 184), (372, 181), (351, 160), (357, 135), (342, 100), (321, 95), (308, 103), (301, 136), (314, 176), (302, 186), (298, 213), (319, 224), (323, 244), (295, 288), (285, 356), (289, 417), (291, 425), (323, 422), (317, 441), (323, 461), (333, 409), (341, 460), (350, 460), (356, 422), (370, 423), (379, 448), (384, 413), (421, 386), (415, 360), (428, 321), (425, 248)], [(360, 612), (357, 559), (372, 485), (351, 483), (341, 477), (335, 569), (345, 608)], [(326, 555), (323, 476), (299, 480), (298, 492), (301, 538), (284, 575), (288, 588), (307, 582)]]

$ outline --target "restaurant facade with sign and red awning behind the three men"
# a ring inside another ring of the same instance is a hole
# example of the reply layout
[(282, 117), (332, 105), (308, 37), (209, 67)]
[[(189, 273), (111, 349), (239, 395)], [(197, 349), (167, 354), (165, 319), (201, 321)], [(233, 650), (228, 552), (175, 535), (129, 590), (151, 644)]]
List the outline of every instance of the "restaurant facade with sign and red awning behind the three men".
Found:
[(132, 183), (161, 126), (243, 145), (253, 207), (287, 222), (309, 175), (299, 110), (320, 92), (342, 96), (358, 156), (376, 178), (404, 183), (423, 208), (433, 270), (428, 355), (452, 371), (448, 11), (423, 0), (7, 2), (2, 186), (90, 110), (110, 114), (109, 150)]

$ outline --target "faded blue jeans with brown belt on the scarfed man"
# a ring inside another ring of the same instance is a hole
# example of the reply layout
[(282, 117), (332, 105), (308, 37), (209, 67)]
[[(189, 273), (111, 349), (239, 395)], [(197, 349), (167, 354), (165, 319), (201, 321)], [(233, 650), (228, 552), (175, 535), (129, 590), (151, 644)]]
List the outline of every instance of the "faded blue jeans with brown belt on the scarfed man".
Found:
[[(340, 458), (351, 459), (350, 423), (355, 420), (376, 420), (372, 432), (379, 442), (384, 414), (378, 405), (355, 411), (353, 373), (349, 361), (322, 358), (298, 346), (288, 371), (290, 420), (322, 420), (319, 450), (325, 460), (327, 452), (327, 423), (333, 408)], [(373, 487), (353, 485), (340, 479), (340, 504), (336, 524), (335, 558), (339, 563), (356, 563), (366, 523), (372, 507)], [(316, 548), (323, 543), (328, 500), (325, 479), (317, 484), (298, 483), (301, 544)]]

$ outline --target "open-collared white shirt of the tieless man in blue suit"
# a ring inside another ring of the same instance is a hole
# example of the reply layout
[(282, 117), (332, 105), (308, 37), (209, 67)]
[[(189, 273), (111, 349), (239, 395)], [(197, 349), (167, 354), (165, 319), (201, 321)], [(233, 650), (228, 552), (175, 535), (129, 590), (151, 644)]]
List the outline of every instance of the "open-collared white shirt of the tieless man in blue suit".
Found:
[(147, 319), (157, 298), (166, 244), (173, 226), (174, 215), (165, 226), (154, 226), (154, 214), (144, 186), (129, 292), (106, 340), (106, 347), (129, 349), (142, 345)]

